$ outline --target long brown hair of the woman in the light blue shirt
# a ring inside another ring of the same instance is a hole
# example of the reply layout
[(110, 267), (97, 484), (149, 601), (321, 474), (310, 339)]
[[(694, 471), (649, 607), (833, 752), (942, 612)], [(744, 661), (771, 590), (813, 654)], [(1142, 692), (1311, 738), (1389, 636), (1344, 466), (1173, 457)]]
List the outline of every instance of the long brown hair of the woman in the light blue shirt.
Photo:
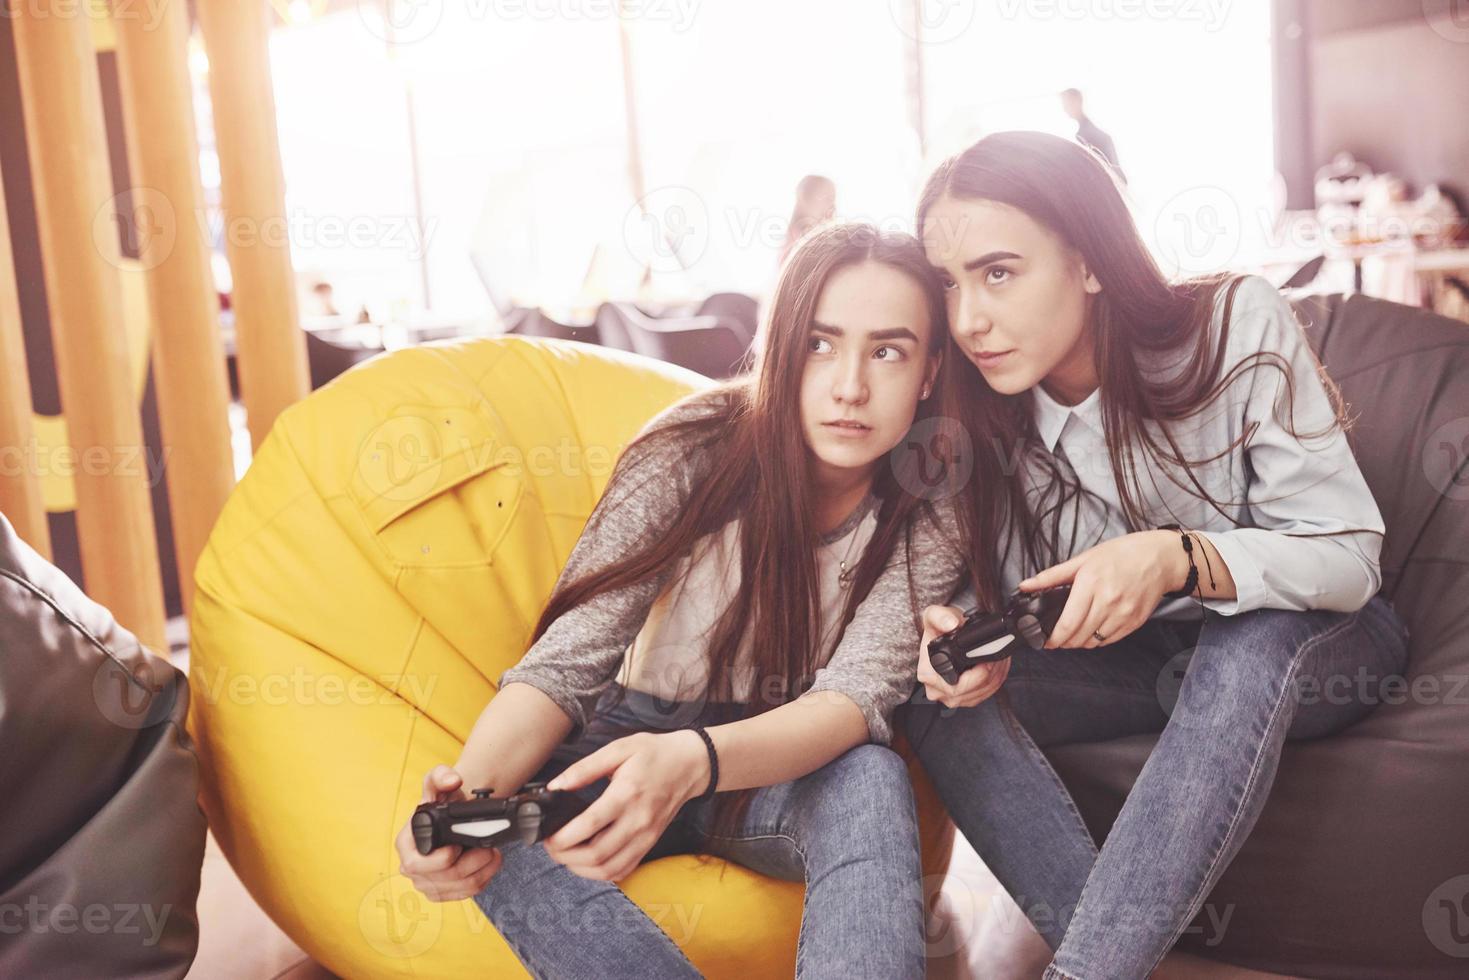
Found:
[[(1230, 311), (1238, 279), (1227, 275), (1169, 282), (1138, 235), (1127, 203), (1106, 165), (1084, 147), (1042, 132), (999, 132), (939, 165), (918, 201), (920, 234), (924, 219), (942, 197), (989, 200), (1024, 212), (1075, 248), (1087, 270), (1102, 284), (1087, 309), (1094, 338), (1097, 376), (1102, 379), (1102, 419), (1108, 457), (1128, 526), (1147, 526), (1140, 504), (1138, 473), (1147, 463), (1174, 483), (1230, 517), (1227, 501), (1210, 497), (1193, 467), (1222, 458), (1247, 445), (1255, 425), (1218, 453), (1185, 458), (1166, 423), (1188, 419), (1208, 407), (1243, 373), (1269, 366), (1284, 378), (1287, 391), (1282, 425), (1299, 439), (1316, 438), (1335, 426), (1347, 426), (1335, 385), (1316, 364), (1335, 410), (1335, 419), (1318, 433), (1297, 433), (1294, 383), (1288, 361), (1275, 351), (1255, 353), (1228, 373), (1224, 372), (1230, 336)], [(1224, 295), (1221, 297), (1221, 291)], [(1215, 304), (1224, 304), (1224, 328), (1210, 329)], [(1178, 353), (1185, 367), (1162, 379), (1143, 370), (1152, 356)], [(1002, 601), (1000, 569), (1009, 548), (1039, 572), (1065, 555), (1078, 542), (1061, 542), (1064, 508), (1080, 502), (1081, 488), (1074, 473), (1044, 451), (1030, 413), (1028, 392), (1002, 395), (961, 351), (945, 359), (943, 411), (974, 433), (977, 450), (974, 479), (959, 505), (970, 574), (980, 602), (996, 608)], [(1162, 423), (1156, 438), (1146, 425)], [(1143, 460), (1137, 458), (1141, 451)], [(1046, 492), (1039, 505), (1027, 502), (1025, 479), (1018, 470), (1037, 467)], [(1166, 463), (1166, 466), (1163, 466)], [(1183, 473), (1175, 476), (1174, 467)], [(1231, 520), (1234, 520), (1231, 517)], [(1238, 522), (1235, 522), (1238, 523)], [(1006, 533), (1009, 532), (1009, 533)], [(1096, 542), (1087, 542), (1096, 544)]]

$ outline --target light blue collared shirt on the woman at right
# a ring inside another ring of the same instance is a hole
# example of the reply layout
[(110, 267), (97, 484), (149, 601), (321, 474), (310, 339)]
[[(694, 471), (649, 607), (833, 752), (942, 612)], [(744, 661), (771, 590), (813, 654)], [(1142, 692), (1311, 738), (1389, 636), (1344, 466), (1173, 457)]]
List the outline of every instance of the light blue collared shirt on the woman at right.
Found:
[[(1222, 329), (1222, 292), (1210, 323), (1215, 334)], [(1036, 429), (1044, 448), (1069, 461), (1083, 489), (1090, 491), (1065, 507), (1059, 560), (1071, 557), (1065, 551), (1072, 539), (1077, 542), (1072, 552), (1080, 552), (1130, 530), (1175, 523), (1209, 538), (1234, 577), (1238, 598), (1205, 599), (1205, 605), (1218, 613), (1256, 608), (1351, 611), (1376, 595), (1382, 585), (1378, 564), (1382, 514), (1346, 435), (1331, 425), (1331, 401), (1290, 306), (1269, 282), (1249, 276), (1234, 297), (1221, 378), (1256, 351), (1274, 351), (1290, 366), (1296, 388), (1293, 428), (1302, 438), (1293, 436), (1282, 423), (1291, 419), (1287, 416), (1290, 403), (1284, 375), (1272, 361), (1246, 369), (1196, 416), (1171, 423), (1187, 460), (1208, 460), (1238, 439), (1247, 426), (1256, 426), (1247, 442), (1193, 467), (1209, 495), (1241, 526), (1194, 497), (1180, 467), (1156, 464), (1138, 447), (1134, 450), (1138, 464), (1134, 498), (1147, 523), (1130, 527), (1106, 451), (1100, 389), (1071, 407), (1055, 401), (1040, 385), (1031, 389)], [(1158, 370), (1158, 376), (1168, 376), (1181, 364), (1174, 356), (1171, 364), (1159, 360), (1143, 367), (1144, 373)], [(1158, 423), (1146, 425), (1153, 433), (1161, 430)], [(1037, 469), (1027, 467), (1033, 500), (1040, 491)], [(1072, 520), (1077, 522), (1075, 538)], [(1324, 532), (1332, 536), (1302, 536)], [(1202, 554), (1196, 558), (1200, 580), (1208, 583)], [(1012, 548), (1002, 570), (1005, 588), (1014, 591), (1033, 572), (1037, 569), (1021, 567), (1018, 551)], [(1196, 599), (1165, 599), (1153, 616), (1197, 617), (1200, 611)]]

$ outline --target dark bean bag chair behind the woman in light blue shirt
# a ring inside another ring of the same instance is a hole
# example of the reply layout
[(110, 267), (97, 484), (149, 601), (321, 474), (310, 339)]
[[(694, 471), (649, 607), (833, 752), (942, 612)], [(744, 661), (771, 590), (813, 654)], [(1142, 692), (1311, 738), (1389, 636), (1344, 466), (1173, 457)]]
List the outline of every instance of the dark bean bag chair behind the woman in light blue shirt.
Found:
[[(1269, 804), (1180, 948), (1304, 977), (1469, 976), (1469, 326), (1363, 297), (1297, 304), (1356, 417), (1412, 629), (1401, 702), (1291, 742)], [(1394, 698), (1397, 699), (1397, 698)], [(1056, 749), (1100, 839), (1156, 739)]]

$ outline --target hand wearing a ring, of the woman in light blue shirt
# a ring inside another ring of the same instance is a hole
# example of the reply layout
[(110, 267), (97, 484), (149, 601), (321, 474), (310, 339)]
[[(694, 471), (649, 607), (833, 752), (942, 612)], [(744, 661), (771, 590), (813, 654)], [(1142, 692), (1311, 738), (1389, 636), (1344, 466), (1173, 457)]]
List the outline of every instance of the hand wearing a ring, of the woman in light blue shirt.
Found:
[(1183, 588), (1187, 574), (1188, 557), (1177, 532), (1140, 530), (1087, 548), (1019, 588), (1039, 592), (1071, 585), (1046, 649), (1091, 649), (1115, 644), (1146, 623), (1163, 592)]

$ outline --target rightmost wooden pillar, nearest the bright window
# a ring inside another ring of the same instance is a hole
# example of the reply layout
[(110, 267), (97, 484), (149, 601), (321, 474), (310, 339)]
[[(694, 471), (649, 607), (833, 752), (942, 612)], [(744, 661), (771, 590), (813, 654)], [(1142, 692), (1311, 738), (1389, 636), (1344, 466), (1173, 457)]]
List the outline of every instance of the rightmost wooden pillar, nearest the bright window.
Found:
[(239, 394), (259, 447), (311, 389), (285, 222), (285, 176), (270, 88), (266, 0), (198, 0), (214, 106), (225, 241), (235, 282)]

